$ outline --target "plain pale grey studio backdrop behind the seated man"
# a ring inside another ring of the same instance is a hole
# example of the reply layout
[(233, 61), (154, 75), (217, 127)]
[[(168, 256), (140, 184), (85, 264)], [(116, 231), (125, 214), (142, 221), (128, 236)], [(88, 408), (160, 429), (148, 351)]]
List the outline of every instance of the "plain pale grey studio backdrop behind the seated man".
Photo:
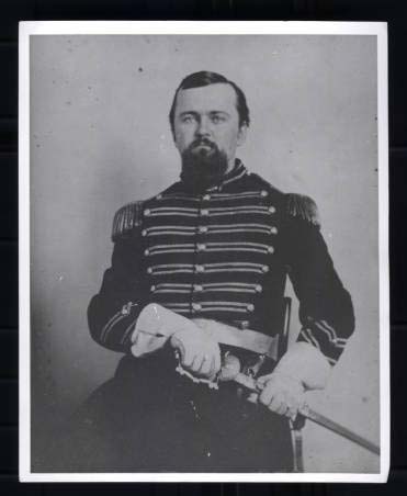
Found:
[[(87, 306), (110, 264), (115, 211), (178, 179), (168, 112), (181, 79), (197, 70), (221, 72), (245, 91), (252, 123), (238, 157), (247, 167), (318, 204), (323, 234), (353, 298), (357, 330), (312, 404), (378, 442), (376, 37), (36, 35), (30, 133), (34, 459), (41, 426), (72, 412), (121, 358), (90, 338)], [(295, 305), (293, 335), (296, 314)], [(378, 456), (309, 421), (304, 442), (306, 471), (378, 471)]]

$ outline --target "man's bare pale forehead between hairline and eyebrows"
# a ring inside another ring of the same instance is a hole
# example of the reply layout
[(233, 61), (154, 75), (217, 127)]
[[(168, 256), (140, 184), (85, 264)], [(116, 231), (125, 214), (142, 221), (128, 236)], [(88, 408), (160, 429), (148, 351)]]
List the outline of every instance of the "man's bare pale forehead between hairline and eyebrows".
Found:
[(177, 95), (176, 114), (189, 111), (237, 114), (236, 92), (230, 84), (224, 82), (180, 90)]

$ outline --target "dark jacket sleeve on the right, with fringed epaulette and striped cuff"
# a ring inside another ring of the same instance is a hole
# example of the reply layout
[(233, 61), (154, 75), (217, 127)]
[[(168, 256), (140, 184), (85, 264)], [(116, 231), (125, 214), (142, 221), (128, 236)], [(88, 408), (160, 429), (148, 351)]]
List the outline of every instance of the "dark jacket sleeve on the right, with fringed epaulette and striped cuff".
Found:
[(320, 234), (314, 201), (287, 195), (286, 227), (289, 275), (299, 301), (297, 340), (315, 346), (333, 365), (354, 330), (351, 296)]

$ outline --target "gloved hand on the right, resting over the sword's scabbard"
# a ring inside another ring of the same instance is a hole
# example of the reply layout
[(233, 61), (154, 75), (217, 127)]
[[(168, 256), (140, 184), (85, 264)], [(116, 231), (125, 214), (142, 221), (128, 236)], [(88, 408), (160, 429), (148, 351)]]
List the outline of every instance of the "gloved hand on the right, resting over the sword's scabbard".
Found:
[(257, 383), (262, 388), (260, 403), (271, 412), (295, 419), (304, 404), (304, 386), (297, 379), (274, 372), (259, 377)]

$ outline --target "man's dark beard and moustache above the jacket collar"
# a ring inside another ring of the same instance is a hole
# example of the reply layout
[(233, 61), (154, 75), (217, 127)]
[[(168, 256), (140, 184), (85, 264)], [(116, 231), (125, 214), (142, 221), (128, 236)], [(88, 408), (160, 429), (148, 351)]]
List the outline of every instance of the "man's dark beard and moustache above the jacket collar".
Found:
[[(205, 145), (205, 148), (197, 148)], [(193, 191), (217, 184), (227, 171), (227, 157), (208, 139), (195, 139), (182, 154), (181, 180)]]

